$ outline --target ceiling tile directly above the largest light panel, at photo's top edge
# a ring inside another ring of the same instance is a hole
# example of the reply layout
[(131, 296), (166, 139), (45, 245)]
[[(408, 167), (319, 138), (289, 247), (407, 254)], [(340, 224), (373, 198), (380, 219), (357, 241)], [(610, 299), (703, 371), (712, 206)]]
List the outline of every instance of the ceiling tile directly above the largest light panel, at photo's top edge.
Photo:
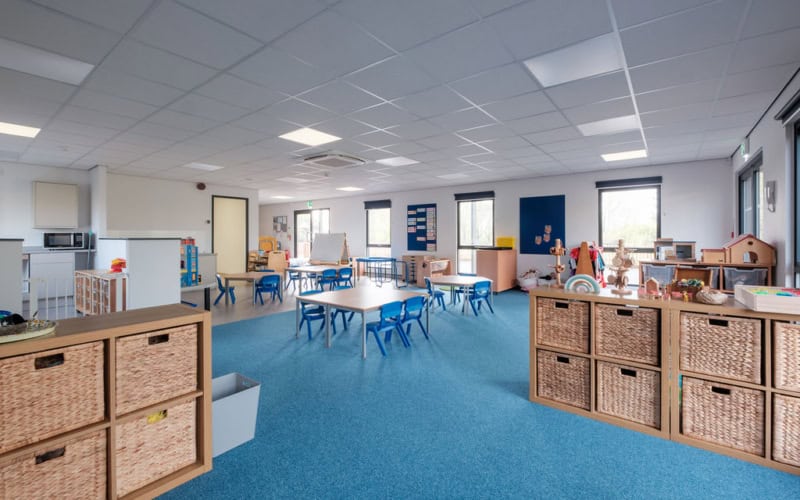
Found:
[(486, 18), (517, 59), (611, 32), (605, 2), (541, 0), (526, 2)]

